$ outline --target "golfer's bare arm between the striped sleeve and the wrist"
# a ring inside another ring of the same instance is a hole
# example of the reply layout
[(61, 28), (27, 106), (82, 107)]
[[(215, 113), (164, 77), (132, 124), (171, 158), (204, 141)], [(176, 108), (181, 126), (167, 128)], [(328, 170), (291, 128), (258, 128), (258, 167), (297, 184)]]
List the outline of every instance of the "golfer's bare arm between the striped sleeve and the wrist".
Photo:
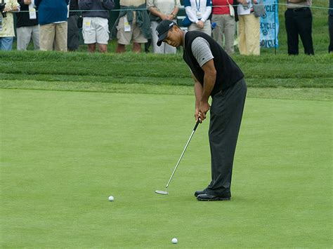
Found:
[(204, 70), (204, 88), (202, 91), (201, 101), (208, 102), (209, 96), (211, 95), (211, 91), (213, 90), (216, 81), (214, 60), (211, 59), (204, 63), (202, 70)]

